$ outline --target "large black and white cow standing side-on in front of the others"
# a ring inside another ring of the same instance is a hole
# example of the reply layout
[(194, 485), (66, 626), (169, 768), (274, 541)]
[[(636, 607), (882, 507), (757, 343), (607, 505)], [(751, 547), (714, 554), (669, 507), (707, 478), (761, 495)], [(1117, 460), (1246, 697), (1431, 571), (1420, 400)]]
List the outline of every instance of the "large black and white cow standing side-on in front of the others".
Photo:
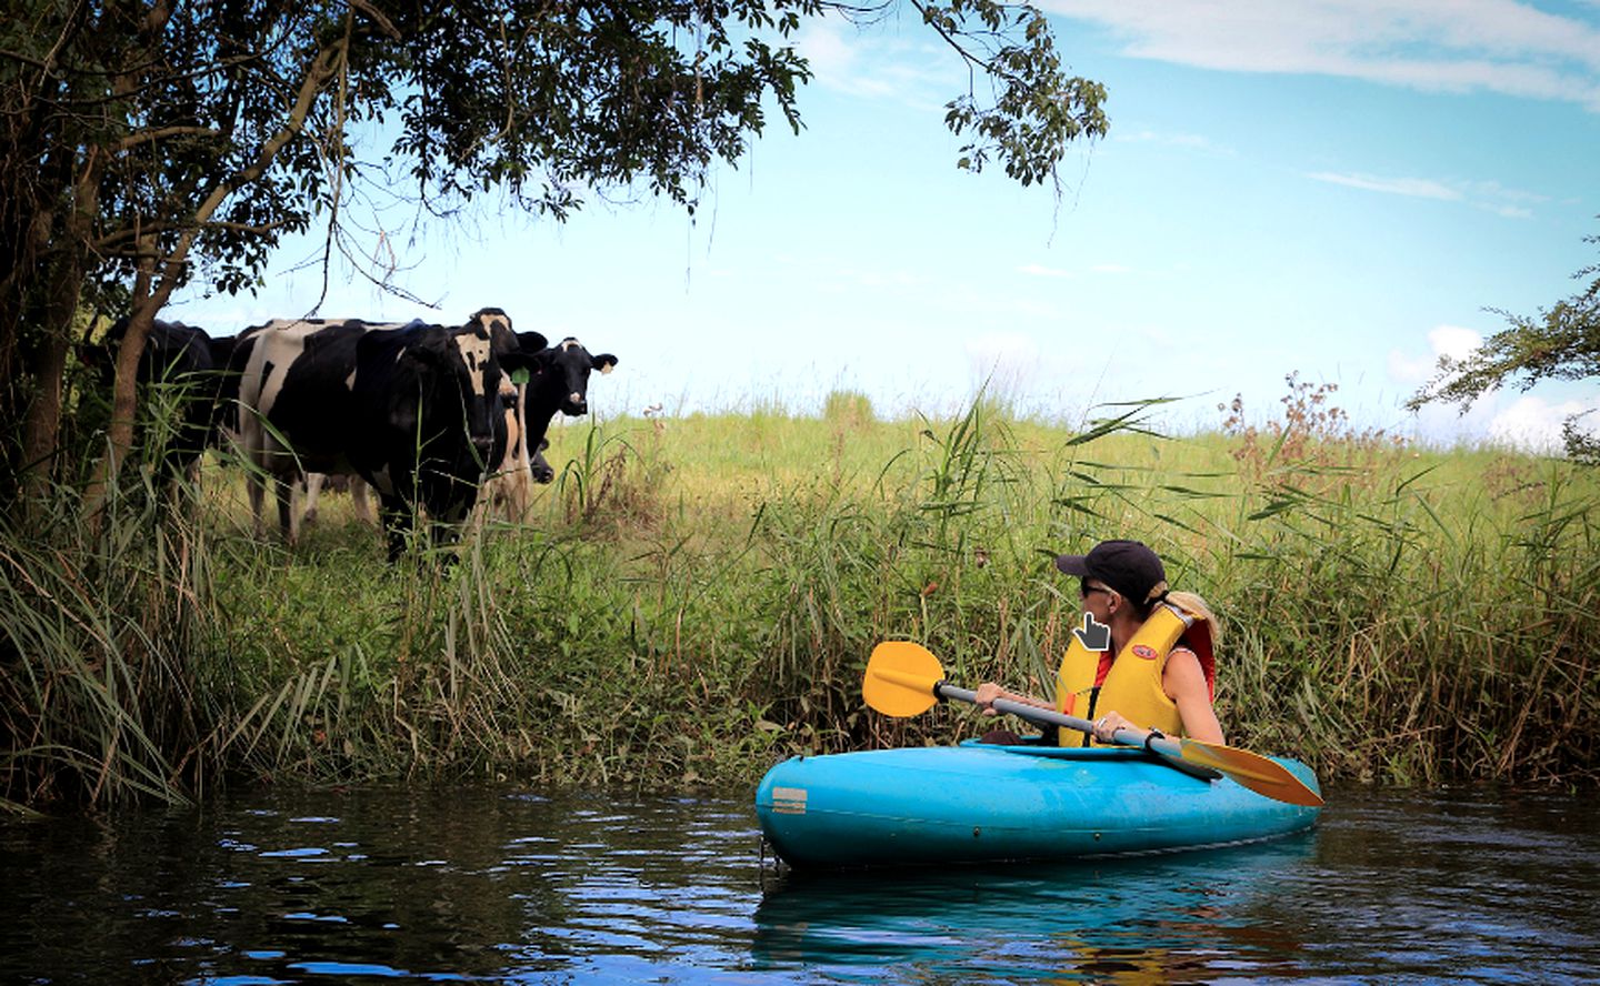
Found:
[(507, 369), (491, 331), (363, 321), (288, 321), (240, 337), (240, 447), (259, 478), (274, 479), (278, 521), (293, 539), (290, 483), (304, 473), (357, 475), (379, 495), (389, 558), (405, 548), (418, 510), (456, 524), (498, 462), (496, 422)]

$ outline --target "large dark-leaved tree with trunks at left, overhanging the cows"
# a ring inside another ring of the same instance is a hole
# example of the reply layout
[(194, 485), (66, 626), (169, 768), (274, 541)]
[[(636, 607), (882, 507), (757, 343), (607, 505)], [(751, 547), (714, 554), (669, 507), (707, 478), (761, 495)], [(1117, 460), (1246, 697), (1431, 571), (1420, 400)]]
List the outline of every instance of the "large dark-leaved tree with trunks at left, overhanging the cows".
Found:
[[(1104, 89), (1066, 75), (1040, 11), (907, 2), (971, 69), (946, 115), (968, 139), (960, 166), (998, 161), (1032, 184), (1070, 141), (1106, 133)], [(586, 197), (640, 187), (693, 211), (768, 107), (798, 133), (800, 24), (870, 21), (896, 3), (8, 0), (0, 489), (37, 489), (64, 459), (82, 307), (131, 315), (106, 483), (131, 443), (150, 324), (192, 278), (248, 289), (280, 237), (315, 217), (341, 249), (341, 209), (395, 185), (430, 216), (491, 189), (558, 221)], [(398, 136), (382, 161), (357, 160), (350, 134), (373, 125)]]

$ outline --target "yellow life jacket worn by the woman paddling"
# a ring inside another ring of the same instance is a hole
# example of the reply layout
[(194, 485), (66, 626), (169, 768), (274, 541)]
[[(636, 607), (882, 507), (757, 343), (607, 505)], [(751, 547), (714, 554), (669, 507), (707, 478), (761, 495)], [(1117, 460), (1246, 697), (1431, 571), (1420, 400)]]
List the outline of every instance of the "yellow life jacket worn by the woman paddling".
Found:
[[(1162, 676), (1166, 655), (1182, 641), (1200, 657), (1206, 687), (1216, 690), (1216, 660), (1211, 652), (1211, 626), (1198, 615), (1184, 612), (1173, 602), (1162, 602), (1117, 654), (1106, 681), (1096, 694), (1101, 652), (1090, 650), (1074, 634), (1072, 646), (1056, 673), (1056, 710), (1078, 719), (1093, 719), (1096, 711), (1115, 711), (1141, 729), (1158, 729), (1181, 735), (1184, 721), (1178, 703), (1166, 697)], [(1091, 738), (1062, 727), (1061, 746), (1090, 746)]]

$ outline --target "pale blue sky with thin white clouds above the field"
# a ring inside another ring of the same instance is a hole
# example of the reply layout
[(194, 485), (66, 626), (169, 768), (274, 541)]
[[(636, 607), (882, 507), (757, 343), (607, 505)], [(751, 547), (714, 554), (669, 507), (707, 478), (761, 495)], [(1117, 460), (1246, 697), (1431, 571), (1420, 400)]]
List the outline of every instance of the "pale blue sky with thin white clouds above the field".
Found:
[[(1285, 374), (1339, 387), (1357, 425), (1550, 447), (1600, 385), (1400, 408), (1438, 353), (1574, 294), (1600, 259), (1600, 3), (1045, 0), (1109, 137), (1066, 195), (955, 168), (942, 104), (965, 69), (902, 11), (811, 24), (806, 128), (710, 177), (690, 219), (592, 201), (566, 225), (488, 201), (390, 240), (387, 297), (331, 273), (325, 316), (578, 336), (621, 360), (595, 412), (818, 408), (946, 414), (976, 387), (1069, 422), (1184, 396), (1171, 430), (1256, 420)], [(376, 248), (376, 238), (370, 238)], [(288, 245), (256, 297), (190, 291), (166, 316), (227, 334), (304, 315), (322, 275)], [(1600, 417), (1600, 415), (1595, 415)]]

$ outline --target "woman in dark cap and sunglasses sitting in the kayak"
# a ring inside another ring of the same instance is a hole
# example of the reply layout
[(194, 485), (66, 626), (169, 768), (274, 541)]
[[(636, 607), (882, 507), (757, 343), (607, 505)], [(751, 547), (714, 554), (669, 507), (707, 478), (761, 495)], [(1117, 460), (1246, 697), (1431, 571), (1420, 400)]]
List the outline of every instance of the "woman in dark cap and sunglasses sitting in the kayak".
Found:
[[(1218, 630), (1205, 599), (1170, 591), (1162, 559), (1136, 540), (1061, 555), (1056, 567), (1078, 577), (1085, 614), (1056, 673), (1056, 702), (1018, 695), (990, 681), (976, 692), (984, 713), (995, 714), (994, 702), (1010, 698), (1091, 719), (1101, 743), (1110, 743), (1118, 729), (1131, 730), (1125, 740), (1171, 734), (1221, 743), (1222, 727), (1211, 708)], [(1046, 732), (1043, 741), (1090, 745), (1086, 735), (1069, 729), (1059, 738)]]

